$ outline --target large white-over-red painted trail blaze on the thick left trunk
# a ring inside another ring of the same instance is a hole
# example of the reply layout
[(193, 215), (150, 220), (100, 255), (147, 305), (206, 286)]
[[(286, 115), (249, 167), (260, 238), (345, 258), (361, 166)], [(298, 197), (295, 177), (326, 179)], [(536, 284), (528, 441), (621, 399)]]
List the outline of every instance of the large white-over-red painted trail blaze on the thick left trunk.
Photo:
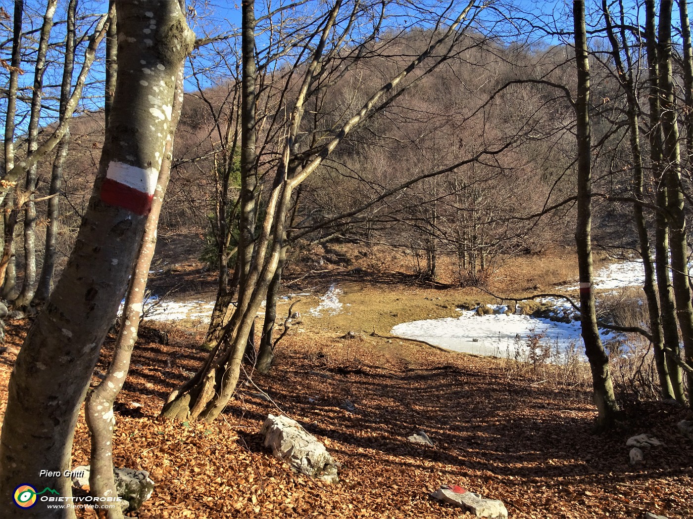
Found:
[(159, 170), (112, 162), (101, 184), (101, 200), (111, 206), (128, 209), (137, 215), (147, 215), (157, 189)]

